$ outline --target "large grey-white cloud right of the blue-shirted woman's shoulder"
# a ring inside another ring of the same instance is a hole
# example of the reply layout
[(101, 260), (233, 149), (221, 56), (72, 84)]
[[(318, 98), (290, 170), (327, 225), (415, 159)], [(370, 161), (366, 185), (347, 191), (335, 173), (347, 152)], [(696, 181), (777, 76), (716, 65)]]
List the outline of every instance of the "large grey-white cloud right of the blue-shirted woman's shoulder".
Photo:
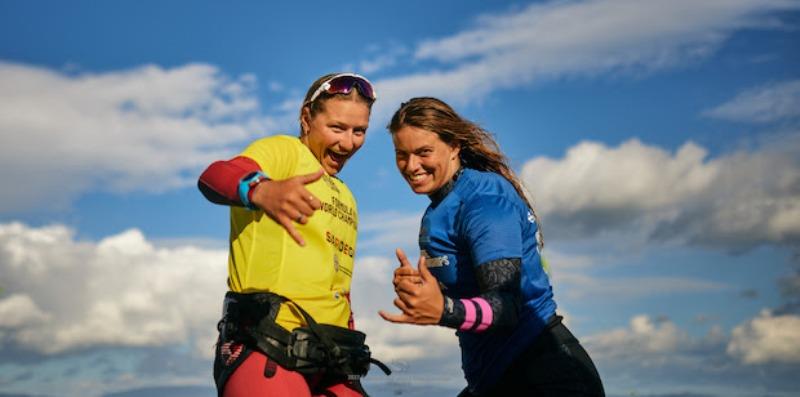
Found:
[(551, 238), (632, 228), (732, 251), (800, 242), (800, 133), (715, 158), (693, 142), (674, 153), (636, 139), (581, 142), (526, 162), (521, 177)]

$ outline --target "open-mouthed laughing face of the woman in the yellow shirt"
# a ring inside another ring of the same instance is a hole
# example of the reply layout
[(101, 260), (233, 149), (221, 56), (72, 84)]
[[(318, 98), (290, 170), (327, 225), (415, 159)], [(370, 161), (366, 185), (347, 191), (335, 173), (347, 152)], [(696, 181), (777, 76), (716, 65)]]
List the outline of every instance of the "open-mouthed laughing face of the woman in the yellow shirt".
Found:
[(369, 106), (363, 101), (333, 97), (314, 116), (305, 108), (300, 123), (304, 131), (300, 140), (328, 175), (336, 175), (364, 144)]

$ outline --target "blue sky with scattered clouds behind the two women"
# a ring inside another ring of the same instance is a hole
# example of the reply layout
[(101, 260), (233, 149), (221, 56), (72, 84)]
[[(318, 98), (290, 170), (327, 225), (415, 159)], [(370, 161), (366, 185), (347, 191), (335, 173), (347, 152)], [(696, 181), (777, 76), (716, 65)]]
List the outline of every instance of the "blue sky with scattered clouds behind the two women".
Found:
[(379, 95), (342, 173), (373, 395), (463, 387), (452, 332), (376, 313), (427, 204), (384, 126), (422, 95), (495, 134), (610, 395), (795, 395), (798, 29), (790, 0), (0, 1), (0, 395), (213, 395), (227, 212), (197, 175), (340, 70)]

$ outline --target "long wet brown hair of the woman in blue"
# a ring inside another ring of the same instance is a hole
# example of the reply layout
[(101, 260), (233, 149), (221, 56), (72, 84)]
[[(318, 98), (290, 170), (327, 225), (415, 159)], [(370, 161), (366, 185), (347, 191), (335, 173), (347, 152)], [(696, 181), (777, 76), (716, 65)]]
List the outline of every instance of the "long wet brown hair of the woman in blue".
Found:
[(433, 132), (444, 143), (459, 147), (462, 166), (494, 172), (508, 180), (531, 210), (539, 230), (540, 244), (543, 244), (542, 225), (533, 209), (533, 203), (491, 133), (459, 116), (450, 105), (431, 97), (412, 98), (400, 105), (400, 109), (394, 113), (387, 128), (394, 134), (403, 126)]

